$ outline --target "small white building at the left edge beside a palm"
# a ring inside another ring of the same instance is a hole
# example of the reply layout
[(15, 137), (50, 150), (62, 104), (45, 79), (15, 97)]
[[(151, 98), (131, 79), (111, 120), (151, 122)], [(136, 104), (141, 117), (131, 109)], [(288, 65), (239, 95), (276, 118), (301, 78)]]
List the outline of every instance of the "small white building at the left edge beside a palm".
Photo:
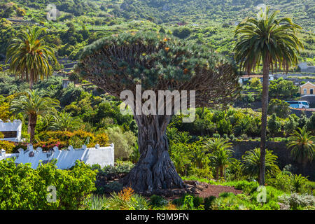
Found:
[(4, 135), (5, 141), (21, 141), (22, 121), (13, 120), (13, 122), (4, 123), (0, 120), (0, 132)]

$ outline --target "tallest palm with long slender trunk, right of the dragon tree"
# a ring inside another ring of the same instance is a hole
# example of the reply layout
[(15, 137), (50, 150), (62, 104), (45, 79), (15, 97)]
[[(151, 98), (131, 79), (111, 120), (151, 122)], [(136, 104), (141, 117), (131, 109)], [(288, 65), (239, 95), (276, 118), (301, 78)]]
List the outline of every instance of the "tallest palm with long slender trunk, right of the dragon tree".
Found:
[(297, 29), (290, 18), (276, 20), (279, 11), (269, 16), (269, 8), (260, 11), (259, 18), (246, 18), (235, 30), (239, 37), (235, 45), (235, 59), (242, 70), (251, 73), (262, 62), (262, 116), (260, 141), (260, 185), (265, 184), (266, 128), (269, 70), (279, 66), (288, 72), (291, 65), (297, 64), (297, 52), (304, 49), (295, 36)]

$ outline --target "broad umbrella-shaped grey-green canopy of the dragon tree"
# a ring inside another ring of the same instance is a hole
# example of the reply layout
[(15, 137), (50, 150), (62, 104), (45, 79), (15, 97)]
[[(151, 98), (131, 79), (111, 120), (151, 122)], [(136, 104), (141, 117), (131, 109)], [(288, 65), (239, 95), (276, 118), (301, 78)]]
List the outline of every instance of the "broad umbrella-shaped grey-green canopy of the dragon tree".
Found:
[(238, 73), (232, 62), (209, 48), (153, 32), (120, 34), (83, 51), (76, 71), (119, 97), (123, 90), (196, 90), (196, 104), (235, 99)]

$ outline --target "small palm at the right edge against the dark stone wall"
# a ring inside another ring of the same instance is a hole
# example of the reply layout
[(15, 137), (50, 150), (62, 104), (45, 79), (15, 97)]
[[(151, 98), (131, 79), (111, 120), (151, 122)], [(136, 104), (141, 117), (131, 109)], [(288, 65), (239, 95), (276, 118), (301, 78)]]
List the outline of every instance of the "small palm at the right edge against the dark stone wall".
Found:
[(302, 163), (303, 169), (307, 162), (311, 162), (315, 156), (315, 136), (303, 127), (297, 128), (293, 134), (290, 134), (287, 144), (288, 148), (292, 148), (291, 155), (297, 162)]

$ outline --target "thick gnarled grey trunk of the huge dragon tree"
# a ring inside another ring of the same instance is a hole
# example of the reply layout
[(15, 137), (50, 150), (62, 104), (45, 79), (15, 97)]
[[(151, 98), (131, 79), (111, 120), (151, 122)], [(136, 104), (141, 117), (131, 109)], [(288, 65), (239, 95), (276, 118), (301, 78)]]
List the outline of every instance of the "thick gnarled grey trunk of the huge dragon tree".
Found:
[(169, 158), (166, 128), (171, 116), (137, 116), (140, 158), (126, 177), (126, 186), (137, 192), (183, 188), (183, 181)]

